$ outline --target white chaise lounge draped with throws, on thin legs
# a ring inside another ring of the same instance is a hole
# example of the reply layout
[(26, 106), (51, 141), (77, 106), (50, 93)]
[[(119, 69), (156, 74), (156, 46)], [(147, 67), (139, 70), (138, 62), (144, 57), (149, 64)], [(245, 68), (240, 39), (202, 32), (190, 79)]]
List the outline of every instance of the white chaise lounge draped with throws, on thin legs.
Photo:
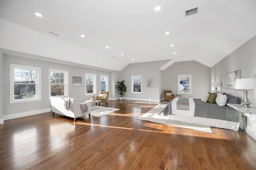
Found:
[(64, 107), (64, 98), (61, 97), (50, 97), (51, 106), (52, 106), (52, 112), (58, 113), (61, 115), (65, 115), (68, 117), (73, 117), (74, 121), (76, 121), (77, 117), (82, 117), (85, 115), (89, 115), (91, 113), (91, 105), (88, 104), (88, 111), (82, 114), (80, 104), (77, 102), (76, 99), (70, 100), (69, 110), (66, 110)]

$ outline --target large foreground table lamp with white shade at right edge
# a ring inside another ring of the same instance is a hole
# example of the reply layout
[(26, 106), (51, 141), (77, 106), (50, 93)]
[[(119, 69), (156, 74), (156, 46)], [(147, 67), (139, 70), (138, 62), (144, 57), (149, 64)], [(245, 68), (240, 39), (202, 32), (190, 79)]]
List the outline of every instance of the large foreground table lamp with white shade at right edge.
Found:
[(250, 108), (251, 102), (249, 102), (247, 98), (247, 90), (246, 89), (255, 89), (256, 88), (256, 78), (241, 78), (236, 79), (235, 89), (244, 89), (244, 98), (241, 102), (241, 107)]

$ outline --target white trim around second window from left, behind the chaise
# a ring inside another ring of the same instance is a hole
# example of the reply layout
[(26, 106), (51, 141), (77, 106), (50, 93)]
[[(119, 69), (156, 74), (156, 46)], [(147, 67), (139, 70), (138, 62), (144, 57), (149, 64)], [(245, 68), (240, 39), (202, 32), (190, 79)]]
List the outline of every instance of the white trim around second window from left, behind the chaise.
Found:
[(68, 70), (59, 70), (59, 69), (55, 69), (55, 68), (49, 68), (49, 99), (51, 97), (51, 72), (62, 72), (64, 73), (64, 81), (66, 84), (66, 88), (65, 88), (65, 92), (64, 92), (64, 96), (58, 96), (58, 97), (68, 97), (68, 93), (69, 93), (69, 71)]

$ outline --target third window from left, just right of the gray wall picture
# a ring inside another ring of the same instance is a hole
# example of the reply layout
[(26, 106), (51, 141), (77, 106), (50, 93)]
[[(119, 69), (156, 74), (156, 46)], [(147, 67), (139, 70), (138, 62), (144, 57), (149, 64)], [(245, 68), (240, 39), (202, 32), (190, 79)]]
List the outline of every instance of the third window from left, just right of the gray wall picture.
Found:
[(85, 95), (96, 93), (96, 74), (85, 73)]

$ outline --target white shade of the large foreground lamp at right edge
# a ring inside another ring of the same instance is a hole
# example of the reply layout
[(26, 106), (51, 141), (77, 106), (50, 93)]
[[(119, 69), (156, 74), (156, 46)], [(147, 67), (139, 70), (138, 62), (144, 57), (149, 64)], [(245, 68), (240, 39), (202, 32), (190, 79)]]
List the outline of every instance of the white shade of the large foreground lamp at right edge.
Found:
[(255, 89), (256, 78), (241, 78), (236, 79), (235, 89)]

